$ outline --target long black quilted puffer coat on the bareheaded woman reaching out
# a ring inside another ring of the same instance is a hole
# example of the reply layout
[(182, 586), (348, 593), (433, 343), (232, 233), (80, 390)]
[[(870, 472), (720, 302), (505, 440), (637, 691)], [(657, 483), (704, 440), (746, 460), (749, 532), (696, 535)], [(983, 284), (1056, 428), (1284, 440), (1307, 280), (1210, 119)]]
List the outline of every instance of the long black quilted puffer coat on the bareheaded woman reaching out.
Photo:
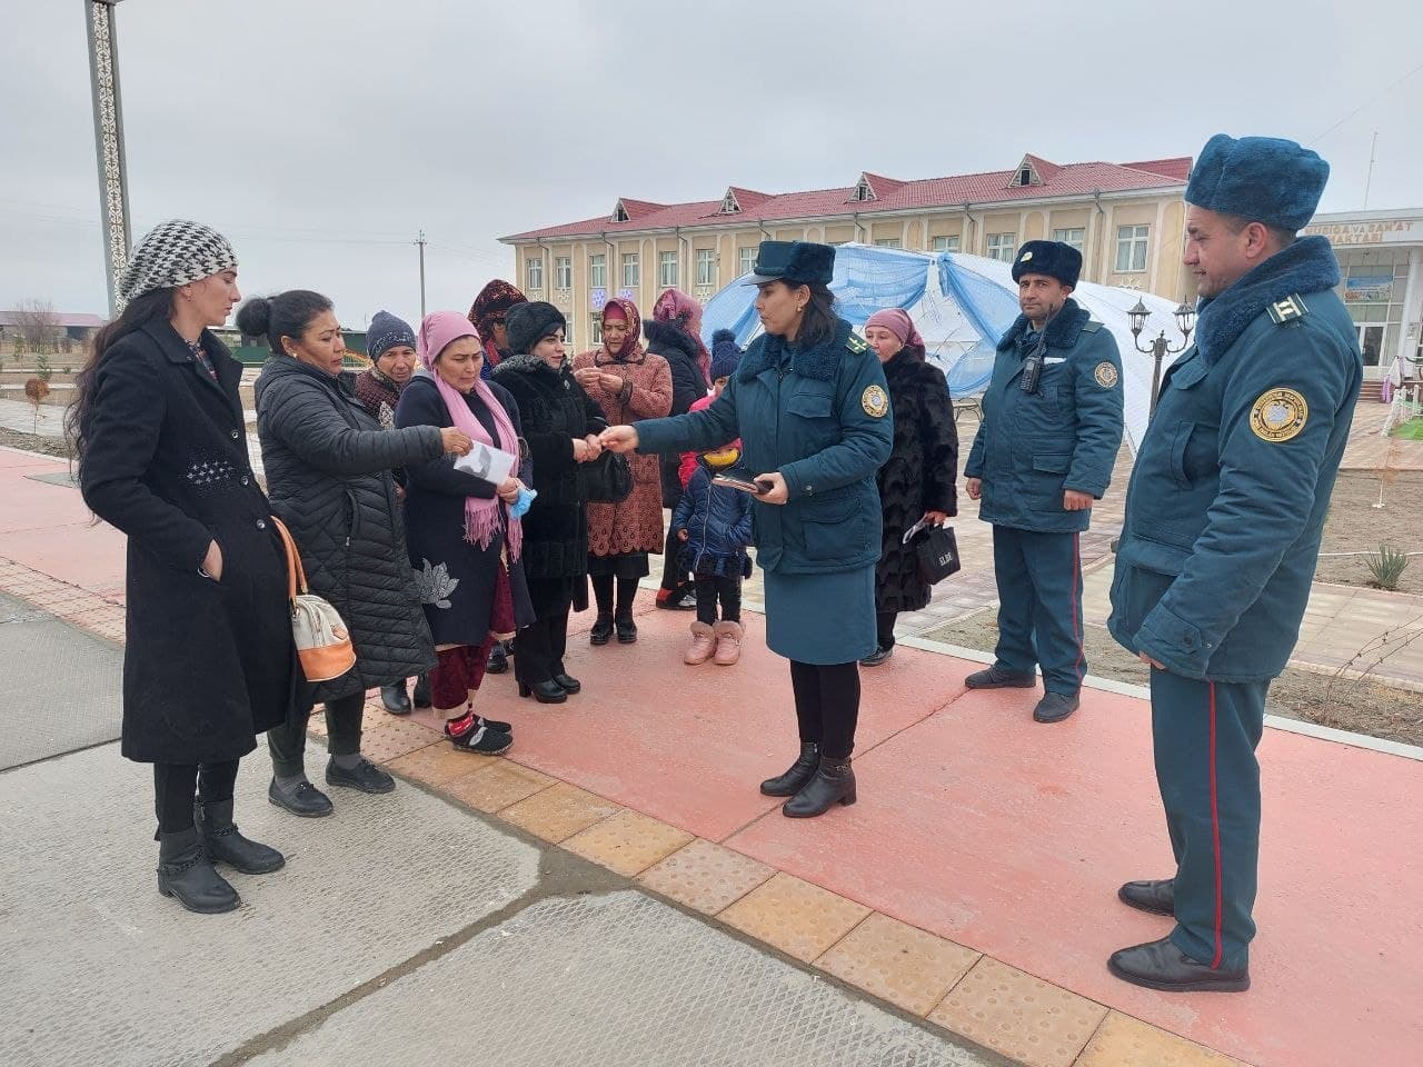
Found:
[(256, 381), (268, 494), (302, 552), (306, 580), (340, 612), (356, 669), (313, 701), (397, 681), (435, 664), (406, 551), (391, 468), (444, 451), (434, 427), (381, 430), (339, 377), (273, 356)]

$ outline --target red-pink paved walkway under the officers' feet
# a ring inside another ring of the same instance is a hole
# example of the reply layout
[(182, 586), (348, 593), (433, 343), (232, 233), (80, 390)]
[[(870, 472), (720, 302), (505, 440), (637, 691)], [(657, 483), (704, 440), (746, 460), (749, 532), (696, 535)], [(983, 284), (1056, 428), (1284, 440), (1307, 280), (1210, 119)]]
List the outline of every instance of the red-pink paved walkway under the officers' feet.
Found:
[[(24, 478), (55, 469), (0, 450), (0, 556), (111, 595), (121, 538)], [(1091, 691), (1037, 726), (1032, 691), (966, 693), (976, 664), (902, 647), (864, 671), (859, 802), (791, 821), (756, 791), (795, 751), (761, 619), (730, 669), (682, 664), (684, 613), (643, 605), (639, 626), (571, 642), (568, 704), (488, 680), (514, 760), (1259, 1067), (1423, 1061), (1423, 763), (1266, 730), (1254, 989), (1153, 993), (1104, 966), (1170, 929), (1116, 899), (1170, 874), (1144, 701)]]

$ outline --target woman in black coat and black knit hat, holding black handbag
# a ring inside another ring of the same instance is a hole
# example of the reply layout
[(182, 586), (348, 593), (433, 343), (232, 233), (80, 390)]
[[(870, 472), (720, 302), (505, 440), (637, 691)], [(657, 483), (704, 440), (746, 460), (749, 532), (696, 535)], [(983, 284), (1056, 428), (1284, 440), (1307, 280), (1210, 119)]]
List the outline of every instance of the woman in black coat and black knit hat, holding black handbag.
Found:
[(588, 489), (578, 465), (598, 458), (596, 435), (608, 427), (569, 371), (565, 324), (554, 304), (515, 304), (505, 327), (517, 354), (494, 368), (494, 381), (519, 405), (538, 492), (524, 516), (524, 575), (535, 620), (515, 637), (514, 674), (519, 696), (545, 704), (581, 689), (564, 666), (568, 613), (588, 575)]

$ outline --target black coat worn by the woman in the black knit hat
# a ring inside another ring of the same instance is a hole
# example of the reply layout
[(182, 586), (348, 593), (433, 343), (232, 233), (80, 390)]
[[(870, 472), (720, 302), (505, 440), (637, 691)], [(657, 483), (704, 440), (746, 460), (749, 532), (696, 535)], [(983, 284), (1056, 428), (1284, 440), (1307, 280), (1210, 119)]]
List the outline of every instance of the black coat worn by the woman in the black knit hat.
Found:
[(511, 356), (494, 368), (519, 405), (538, 497), (524, 516), (524, 576), (534, 612), (562, 610), (588, 573), (588, 489), (573, 460), (573, 438), (608, 428), (603, 411), (565, 363), (555, 370), (534, 356)]

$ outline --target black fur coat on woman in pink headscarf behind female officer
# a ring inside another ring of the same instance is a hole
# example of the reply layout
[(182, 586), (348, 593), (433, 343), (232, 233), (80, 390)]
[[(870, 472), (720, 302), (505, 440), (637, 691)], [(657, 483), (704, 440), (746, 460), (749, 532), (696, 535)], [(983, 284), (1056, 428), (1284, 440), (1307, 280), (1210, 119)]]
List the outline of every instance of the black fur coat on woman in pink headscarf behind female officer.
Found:
[(894, 405), (894, 451), (875, 477), (884, 509), (884, 553), (875, 568), (875, 609), (918, 612), (929, 603), (915, 546), (904, 532), (926, 511), (958, 515), (959, 432), (943, 371), (901, 351), (884, 364)]

